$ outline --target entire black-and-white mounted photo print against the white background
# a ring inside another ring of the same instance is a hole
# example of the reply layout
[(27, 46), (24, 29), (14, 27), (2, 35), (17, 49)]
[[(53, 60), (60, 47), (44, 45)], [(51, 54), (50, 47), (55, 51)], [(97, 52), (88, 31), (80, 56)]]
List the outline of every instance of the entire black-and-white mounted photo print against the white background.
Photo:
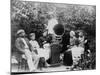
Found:
[(96, 69), (96, 6), (11, 0), (11, 73)]

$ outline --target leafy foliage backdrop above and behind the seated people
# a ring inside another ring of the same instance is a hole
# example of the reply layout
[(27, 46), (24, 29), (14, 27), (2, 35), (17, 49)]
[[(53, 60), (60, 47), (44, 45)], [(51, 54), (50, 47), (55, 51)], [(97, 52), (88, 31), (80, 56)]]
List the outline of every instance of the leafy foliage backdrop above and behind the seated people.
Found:
[[(53, 14), (50, 14), (53, 13)], [(27, 35), (35, 32), (42, 35), (50, 15), (56, 17), (65, 30), (81, 29), (87, 33), (89, 46), (95, 52), (96, 7), (89, 5), (54, 4), (11, 0), (11, 46), (14, 48), (16, 32), (24, 29)]]

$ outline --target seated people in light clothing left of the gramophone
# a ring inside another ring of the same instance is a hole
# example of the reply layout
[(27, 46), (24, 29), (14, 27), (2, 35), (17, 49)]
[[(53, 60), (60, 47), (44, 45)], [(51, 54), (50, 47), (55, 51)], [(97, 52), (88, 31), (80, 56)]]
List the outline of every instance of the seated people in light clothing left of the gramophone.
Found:
[(15, 41), (16, 48), (22, 53), (22, 57), (27, 60), (29, 70), (35, 71), (38, 68), (40, 58), (44, 58), (45, 60), (49, 58), (49, 43), (44, 44), (41, 48), (38, 42), (35, 40), (35, 33), (29, 34), (29, 40), (26, 37), (25, 31), (23, 29), (18, 30), (17, 36), (18, 37)]

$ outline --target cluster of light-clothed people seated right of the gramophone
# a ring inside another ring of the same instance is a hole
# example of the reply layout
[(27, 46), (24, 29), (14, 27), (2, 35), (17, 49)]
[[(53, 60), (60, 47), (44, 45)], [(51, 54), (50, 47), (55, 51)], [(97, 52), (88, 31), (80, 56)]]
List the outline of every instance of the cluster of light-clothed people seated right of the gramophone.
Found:
[(66, 52), (70, 52), (72, 54), (72, 65), (77, 65), (78, 61), (81, 59), (81, 55), (84, 54), (85, 51), (85, 36), (81, 31), (70, 31), (70, 46)]

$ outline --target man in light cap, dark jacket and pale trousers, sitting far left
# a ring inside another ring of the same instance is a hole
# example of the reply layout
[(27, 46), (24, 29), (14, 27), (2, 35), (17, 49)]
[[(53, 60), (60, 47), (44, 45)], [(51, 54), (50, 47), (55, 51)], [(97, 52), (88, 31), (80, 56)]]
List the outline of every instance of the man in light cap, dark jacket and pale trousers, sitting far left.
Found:
[(30, 71), (34, 70), (34, 65), (32, 61), (32, 54), (30, 51), (30, 45), (29, 40), (25, 37), (25, 31), (23, 29), (20, 29), (17, 31), (18, 38), (15, 41), (16, 48), (22, 53), (22, 55), (25, 55), (27, 64)]

